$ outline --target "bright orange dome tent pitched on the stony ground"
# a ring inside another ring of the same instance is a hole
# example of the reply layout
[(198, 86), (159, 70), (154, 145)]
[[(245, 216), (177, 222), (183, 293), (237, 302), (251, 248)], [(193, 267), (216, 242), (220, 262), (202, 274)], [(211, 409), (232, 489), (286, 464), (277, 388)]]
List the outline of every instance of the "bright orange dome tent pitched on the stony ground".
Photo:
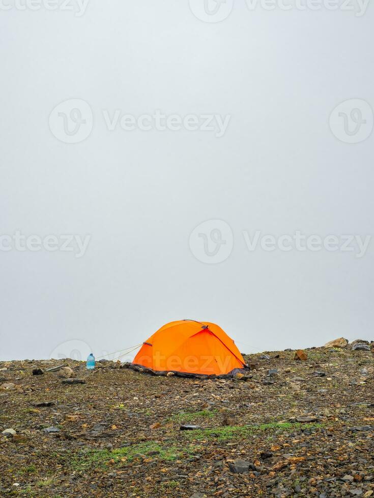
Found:
[(153, 372), (218, 376), (235, 375), (245, 362), (233, 339), (218, 325), (179, 320), (151, 335), (132, 366)]

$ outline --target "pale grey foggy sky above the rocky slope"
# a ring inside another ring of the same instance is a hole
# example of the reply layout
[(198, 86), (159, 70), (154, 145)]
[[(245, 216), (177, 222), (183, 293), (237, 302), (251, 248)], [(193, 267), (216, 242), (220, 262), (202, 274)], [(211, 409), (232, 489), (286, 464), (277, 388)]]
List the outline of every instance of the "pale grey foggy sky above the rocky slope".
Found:
[[(0, 11), (0, 234), (91, 235), (82, 258), (0, 252), (0, 359), (71, 340), (99, 356), (184, 318), (219, 324), (243, 352), (372, 339), (374, 242), (360, 259), (250, 253), (242, 231), (372, 233), (374, 135), (343, 143), (329, 116), (349, 99), (374, 106), (373, 20), (370, 5), (356, 17), (244, 0), (219, 23), (187, 0)], [(77, 144), (48, 126), (68, 99), (93, 111)], [(116, 109), (231, 120), (221, 138), (110, 132), (103, 111)], [(216, 219), (233, 252), (204, 264), (189, 236)]]

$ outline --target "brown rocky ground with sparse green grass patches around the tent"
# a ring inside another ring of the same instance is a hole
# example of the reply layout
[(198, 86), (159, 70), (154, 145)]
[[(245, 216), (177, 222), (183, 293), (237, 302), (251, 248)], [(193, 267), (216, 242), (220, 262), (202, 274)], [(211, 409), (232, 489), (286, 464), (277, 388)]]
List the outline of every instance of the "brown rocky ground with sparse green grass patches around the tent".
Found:
[(229, 380), (0, 362), (0, 496), (374, 498), (371, 346), (245, 356)]

